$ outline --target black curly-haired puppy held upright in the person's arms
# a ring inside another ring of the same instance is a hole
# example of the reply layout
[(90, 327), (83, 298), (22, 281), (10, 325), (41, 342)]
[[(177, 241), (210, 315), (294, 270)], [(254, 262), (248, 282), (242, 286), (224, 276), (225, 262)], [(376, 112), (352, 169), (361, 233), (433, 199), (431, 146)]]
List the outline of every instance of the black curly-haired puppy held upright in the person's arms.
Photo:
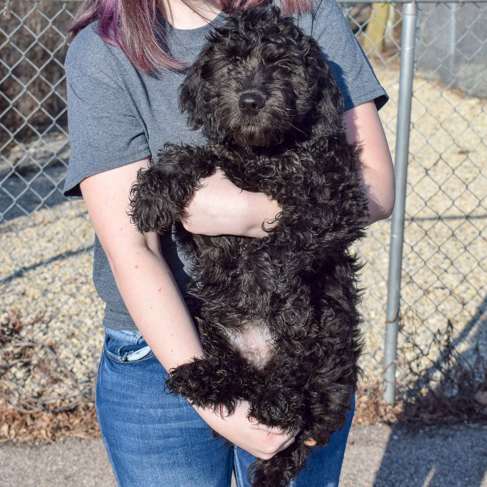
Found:
[(365, 236), (368, 211), (360, 150), (344, 140), (343, 100), (317, 42), (274, 7), (215, 28), (180, 104), (208, 143), (166, 144), (139, 171), (131, 193), (139, 231), (180, 222), (217, 168), (282, 210), (261, 239), (185, 233), (206, 356), (170, 371), (167, 386), (229, 412), (247, 400), (260, 423), (299, 431), (249, 471), (254, 487), (284, 487), (344, 425), (360, 373), (360, 263), (349, 249)]

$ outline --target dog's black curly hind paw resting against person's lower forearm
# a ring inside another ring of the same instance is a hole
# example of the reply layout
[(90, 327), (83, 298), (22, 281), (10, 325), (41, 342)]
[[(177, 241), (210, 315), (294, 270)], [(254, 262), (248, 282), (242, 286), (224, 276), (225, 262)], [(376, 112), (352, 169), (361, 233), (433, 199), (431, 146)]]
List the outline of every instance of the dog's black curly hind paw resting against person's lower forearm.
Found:
[(224, 407), (232, 412), (240, 399), (238, 378), (218, 361), (197, 358), (172, 369), (166, 381), (168, 392), (185, 396), (191, 404), (202, 408)]

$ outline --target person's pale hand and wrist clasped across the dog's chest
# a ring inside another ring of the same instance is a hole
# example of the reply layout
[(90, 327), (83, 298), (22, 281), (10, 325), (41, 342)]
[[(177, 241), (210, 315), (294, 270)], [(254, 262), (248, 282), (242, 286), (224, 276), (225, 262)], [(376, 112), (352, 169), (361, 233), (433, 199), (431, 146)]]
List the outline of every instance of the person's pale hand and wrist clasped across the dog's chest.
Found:
[(182, 222), (187, 231), (200, 235), (242, 235), (265, 237), (265, 228), (272, 228), (281, 210), (277, 201), (263, 193), (251, 193), (235, 186), (217, 170), (201, 180), (203, 185), (194, 192), (187, 206), (187, 218)]

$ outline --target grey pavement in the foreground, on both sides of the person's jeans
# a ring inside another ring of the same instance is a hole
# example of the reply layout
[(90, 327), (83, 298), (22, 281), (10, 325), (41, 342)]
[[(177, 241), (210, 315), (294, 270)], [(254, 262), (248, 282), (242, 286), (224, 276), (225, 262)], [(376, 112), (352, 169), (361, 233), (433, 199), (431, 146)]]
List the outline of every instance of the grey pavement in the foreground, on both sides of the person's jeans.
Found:
[[(487, 487), (487, 429), (354, 426), (340, 487)], [(116, 487), (101, 439), (0, 446), (0, 487)], [(310, 486), (311, 487), (311, 486)]]

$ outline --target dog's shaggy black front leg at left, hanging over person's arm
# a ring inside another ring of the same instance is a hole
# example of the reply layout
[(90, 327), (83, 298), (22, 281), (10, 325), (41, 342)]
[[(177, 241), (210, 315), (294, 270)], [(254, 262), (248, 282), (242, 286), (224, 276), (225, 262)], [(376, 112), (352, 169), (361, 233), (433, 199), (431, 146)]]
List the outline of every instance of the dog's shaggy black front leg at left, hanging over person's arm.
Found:
[(140, 232), (167, 230), (186, 216), (200, 178), (215, 172), (205, 148), (166, 144), (131, 188), (129, 215)]

